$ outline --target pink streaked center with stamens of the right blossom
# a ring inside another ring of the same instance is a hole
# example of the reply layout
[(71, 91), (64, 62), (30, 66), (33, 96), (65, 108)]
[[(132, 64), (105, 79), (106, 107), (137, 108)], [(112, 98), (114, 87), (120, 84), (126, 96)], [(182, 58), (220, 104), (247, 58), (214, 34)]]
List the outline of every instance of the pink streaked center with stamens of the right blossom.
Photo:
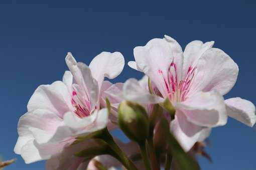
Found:
[(169, 66), (167, 77), (164, 77), (163, 71), (159, 69), (159, 73), (164, 77), (168, 97), (172, 102), (186, 100), (187, 94), (190, 90), (191, 82), (195, 74), (195, 69), (196, 67), (190, 66), (188, 68), (186, 77), (179, 82), (177, 78), (177, 66), (173, 61)]

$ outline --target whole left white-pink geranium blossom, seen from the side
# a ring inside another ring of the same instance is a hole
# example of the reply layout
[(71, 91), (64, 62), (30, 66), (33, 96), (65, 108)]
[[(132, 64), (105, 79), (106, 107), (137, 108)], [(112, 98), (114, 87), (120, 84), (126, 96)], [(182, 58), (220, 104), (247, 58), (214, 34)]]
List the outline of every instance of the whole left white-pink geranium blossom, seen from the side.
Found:
[(104, 77), (114, 78), (122, 71), (122, 54), (102, 52), (87, 66), (68, 53), (66, 63), (70, 71), (63, 81), (40, 85), (19, 120), (14, 150), (26, 163), (49, 159), (75, 137), (107, 125), (107, 109), (100, 105), (102, 83)]

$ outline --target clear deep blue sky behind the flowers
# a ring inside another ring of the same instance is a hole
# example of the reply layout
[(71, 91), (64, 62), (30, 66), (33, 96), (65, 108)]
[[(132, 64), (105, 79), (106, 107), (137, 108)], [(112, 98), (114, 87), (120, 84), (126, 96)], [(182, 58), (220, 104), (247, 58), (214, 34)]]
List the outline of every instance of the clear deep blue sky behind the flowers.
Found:
[[(44, 169), (43, 161), (26, 165), (13, 152), (17, 123), (36, 87), (62, 78), (68, 51), (85, 63), (101, 51), (120, 51), (127, 62), (135, 46), (164, 34), (183, 48), (191, 40), (215, 40), (240, 68), (225, 97), (256, 103), (255, 9), (255, 0), (1, 0), (0, 154), (18, 159), (6, 169)], [(141, 76), (125, 65), (113, 82)], [(252, 128), (229, 118), (210, 141), (213, 163), (200, 158), (202, 169), (256, 169)]]

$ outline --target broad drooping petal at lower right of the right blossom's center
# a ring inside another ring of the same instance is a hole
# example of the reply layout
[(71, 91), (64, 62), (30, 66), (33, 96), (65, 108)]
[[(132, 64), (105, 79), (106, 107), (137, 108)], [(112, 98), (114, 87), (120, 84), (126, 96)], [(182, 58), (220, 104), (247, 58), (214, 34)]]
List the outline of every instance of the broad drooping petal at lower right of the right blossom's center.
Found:
[(217, 91), (197, 92), (175, 107), (184, 112), (188, 121), (200, 126), (215, 127), (227, 122), (224, 99)]

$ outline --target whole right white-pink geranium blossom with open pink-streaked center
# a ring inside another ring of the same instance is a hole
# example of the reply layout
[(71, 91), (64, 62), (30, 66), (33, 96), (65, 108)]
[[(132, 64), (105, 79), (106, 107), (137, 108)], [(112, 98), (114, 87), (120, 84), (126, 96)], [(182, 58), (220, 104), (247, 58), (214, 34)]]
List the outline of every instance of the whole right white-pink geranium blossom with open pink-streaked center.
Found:
[(237, 64), (214, 42), (195, 40), (184, 52), (171, 38), (155, 38), (145, 46), (134, 48), (136, 61), (129, 65), (150, 77), (154, 94), (136, 79), (124, 84), (126, 99), (147, 103), (163, 102), (169, 98), (176, 108), (170, 127), (185, 150), (189, 150), (209, 128), (224, 125), (227, 115), (252, 126), (255, 106), (241, 98), (224, 100), (234, 85)]

